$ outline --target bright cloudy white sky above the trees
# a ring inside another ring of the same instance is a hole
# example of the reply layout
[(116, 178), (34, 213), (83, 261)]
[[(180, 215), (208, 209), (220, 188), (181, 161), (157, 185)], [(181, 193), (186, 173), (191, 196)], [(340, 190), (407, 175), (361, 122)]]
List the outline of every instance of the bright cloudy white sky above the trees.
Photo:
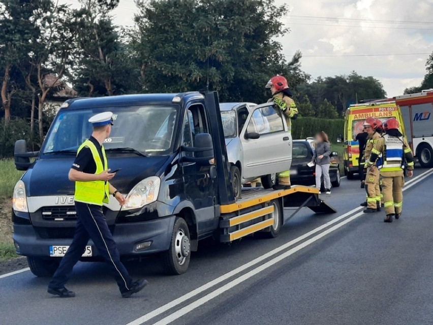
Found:
[[(60, 2), (78, 5), (77, 0)], [(284, 23), (290, 33), (281, 39), (284, 54), (290, 57), (300, 50), (302, 69), (313, 78), (355, 70), (378, 78), (389, 97), (421, 83), (428, 53), (433, 52), (433, 0), (276, 3), (289, 7)], [(132, 25), (135, 8), (133, 0), (120, 0), (113, 12), (115, 23)], [(419, 54), (398, 55), (411, 53)]]

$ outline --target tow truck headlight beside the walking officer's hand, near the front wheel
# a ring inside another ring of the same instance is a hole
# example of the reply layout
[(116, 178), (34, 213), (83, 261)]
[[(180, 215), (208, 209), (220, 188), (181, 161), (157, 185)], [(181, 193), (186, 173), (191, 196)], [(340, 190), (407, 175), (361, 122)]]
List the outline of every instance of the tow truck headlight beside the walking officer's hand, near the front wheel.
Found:
[(157, 176), (151, 176), (139, 182), (128, 193), (122, 210), (142, 208), (144, 205), (156, 201), (160, 185), (161, 180)]

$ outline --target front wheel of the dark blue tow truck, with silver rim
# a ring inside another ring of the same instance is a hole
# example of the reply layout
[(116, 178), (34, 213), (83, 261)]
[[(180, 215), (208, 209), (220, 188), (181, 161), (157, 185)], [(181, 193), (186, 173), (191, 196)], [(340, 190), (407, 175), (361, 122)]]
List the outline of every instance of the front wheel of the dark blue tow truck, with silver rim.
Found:
[(191, 238), (188, 225), (180, 217), (174, 221), (171, 243), (168, 251), (162, 255), (166, 273), (178, 275), (187, 272), (191, 258)]

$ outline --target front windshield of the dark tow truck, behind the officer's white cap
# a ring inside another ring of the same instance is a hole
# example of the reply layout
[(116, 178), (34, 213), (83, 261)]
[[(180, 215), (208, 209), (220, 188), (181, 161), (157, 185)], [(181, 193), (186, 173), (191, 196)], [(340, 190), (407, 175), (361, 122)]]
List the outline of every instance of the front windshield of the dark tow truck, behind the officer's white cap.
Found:
[(177, 106), (103, 107), (60, 111), (42, 148), (43, 154), (73, 153), (92, 133), (88, 119), (113, 112), (110, 136), (104, 141), (107, 152), (162, 156), (171, 152)]

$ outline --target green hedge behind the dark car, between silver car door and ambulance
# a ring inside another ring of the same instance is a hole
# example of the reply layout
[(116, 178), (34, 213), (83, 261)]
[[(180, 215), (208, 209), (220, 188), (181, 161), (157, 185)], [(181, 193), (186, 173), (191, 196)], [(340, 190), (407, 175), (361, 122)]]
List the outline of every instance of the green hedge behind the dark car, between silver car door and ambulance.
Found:
[(320, 117), (298, 117), (292, 121), (293, 139), (313, 137), (317, 132), (324, 131), (330, 142), (336, 142), (338, 134), (344, 133), (343, 119), (321, 119)]

